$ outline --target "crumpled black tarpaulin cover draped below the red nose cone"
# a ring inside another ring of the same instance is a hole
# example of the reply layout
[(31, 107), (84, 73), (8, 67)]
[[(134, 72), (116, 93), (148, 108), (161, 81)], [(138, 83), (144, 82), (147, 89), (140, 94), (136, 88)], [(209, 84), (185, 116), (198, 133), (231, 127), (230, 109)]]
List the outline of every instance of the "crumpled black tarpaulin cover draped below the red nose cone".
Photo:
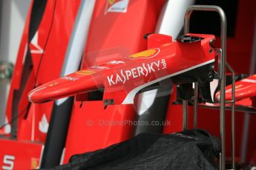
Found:
[(170, 135), (141, 134), (95, 152), (76, 154), (54, 169), (218, 169), (220, 142), (193, 129)]

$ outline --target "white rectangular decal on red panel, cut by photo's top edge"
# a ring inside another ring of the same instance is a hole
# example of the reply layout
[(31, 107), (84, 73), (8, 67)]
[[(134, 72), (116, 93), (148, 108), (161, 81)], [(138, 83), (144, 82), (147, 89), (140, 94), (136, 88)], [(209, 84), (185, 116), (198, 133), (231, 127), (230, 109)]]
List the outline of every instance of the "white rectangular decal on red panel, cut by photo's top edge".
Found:
[(108, 0), (105, 7), (107, 13), (126, 13), (128, 10), (129, 0)]

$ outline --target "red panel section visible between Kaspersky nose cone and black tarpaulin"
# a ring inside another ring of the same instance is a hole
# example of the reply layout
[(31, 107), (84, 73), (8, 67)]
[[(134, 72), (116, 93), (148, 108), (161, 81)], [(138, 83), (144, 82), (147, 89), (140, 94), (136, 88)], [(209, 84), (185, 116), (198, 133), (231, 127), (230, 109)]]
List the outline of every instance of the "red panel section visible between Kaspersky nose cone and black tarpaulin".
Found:
[(103, 109), (102, 101), (88, 101), (80, 106), (81, 101), (73, 104), (63, 163), (68, 163), (73, 154), (102, 149), (132, 137), (131, 122), (136, 118), (133, 105)]

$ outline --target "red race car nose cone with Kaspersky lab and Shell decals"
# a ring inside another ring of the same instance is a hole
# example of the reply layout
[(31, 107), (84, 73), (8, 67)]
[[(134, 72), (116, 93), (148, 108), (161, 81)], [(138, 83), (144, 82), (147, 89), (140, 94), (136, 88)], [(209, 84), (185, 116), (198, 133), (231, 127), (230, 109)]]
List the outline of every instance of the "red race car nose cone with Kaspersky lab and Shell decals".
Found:
[(119, 61), (88, 67), (50, 81), (33, 89), (28, 95), (29, 100), (42, 103), (104, 88), (103, 101), (113, 99), (110, 104), (130, 104), (134, 103), (135, 95), (146, 86), (214, 63), (214, 52), (209, 52), (209, 42), (214, 39), (214, 35), (194, 34), (203, 39), (193, 43), (171, 41), (167, 35), (158, 36), (160, 41), (164, 36), (170, 42), (166, 44), (164, 41), (158, 48), (138, 52)]

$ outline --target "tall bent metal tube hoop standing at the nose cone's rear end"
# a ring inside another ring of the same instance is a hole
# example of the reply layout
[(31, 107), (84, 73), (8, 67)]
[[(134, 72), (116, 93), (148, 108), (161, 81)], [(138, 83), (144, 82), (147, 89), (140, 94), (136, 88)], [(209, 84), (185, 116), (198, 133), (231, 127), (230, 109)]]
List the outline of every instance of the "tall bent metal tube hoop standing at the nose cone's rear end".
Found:
[[(200, 11), (213, 11), (217, 12), (220, 16), (220, 38), (222, 58), (220, 64), (220, 140), (221, 140), (221, 165), (220, 169), (226, 169), (226, 134), (225, 134), (225, 113), (226, 113), (226, 15), (224, 11), (214, 5), (193, 5), (188, 8), (184, 19), (184, 33), (189, 33), (189, 19), (194, 10)], [(196, 87), (196, 86), (194, 86)], [(197, 99), (196, 99), (197, 100)], [(233, 106), (233, 105), (232, 105)], [(195, 106), (197, 107), (197, 106)], [(183, 108), (186, 108), (186, 103), (183, 101)], [(197, 111), (197, 109), (194, 109)], [(194, 113), (197, 115), (197, 113)]]

